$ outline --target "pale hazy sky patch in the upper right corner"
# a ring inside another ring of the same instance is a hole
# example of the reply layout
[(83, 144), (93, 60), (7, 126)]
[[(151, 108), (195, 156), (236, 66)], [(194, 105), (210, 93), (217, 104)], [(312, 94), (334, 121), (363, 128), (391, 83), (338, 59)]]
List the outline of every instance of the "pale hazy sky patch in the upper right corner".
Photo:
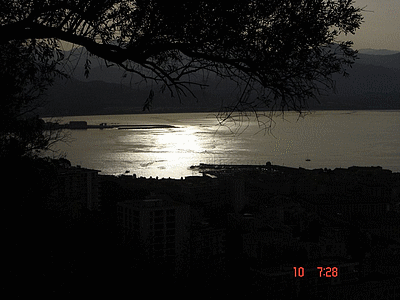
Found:
[(364, 23), (348, 39), (355, 49), (373, 48), (400, 51), (400, 0), (354, 0), (364, 7)]

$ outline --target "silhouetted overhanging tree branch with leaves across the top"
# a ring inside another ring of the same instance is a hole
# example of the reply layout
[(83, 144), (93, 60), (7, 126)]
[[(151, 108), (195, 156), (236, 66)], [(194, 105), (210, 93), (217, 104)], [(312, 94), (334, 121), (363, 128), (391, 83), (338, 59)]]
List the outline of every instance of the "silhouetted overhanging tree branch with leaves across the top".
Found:
[[(237, 111), (296, 110), (346, 75), (356, 51), (339, 42), (362, 22), (352, 0), (17, 0), (0, 4), (0, 43), (48, 39), (85, 47), (161, 83), (171, 95), (205, 87), (207, 74), (238, 83)], [(90, 59), (86, 58), (86, 73)], [(203, 72), (203, 73), (202, 73)], [(153, 98), (151, 91), (147, 106)]]

